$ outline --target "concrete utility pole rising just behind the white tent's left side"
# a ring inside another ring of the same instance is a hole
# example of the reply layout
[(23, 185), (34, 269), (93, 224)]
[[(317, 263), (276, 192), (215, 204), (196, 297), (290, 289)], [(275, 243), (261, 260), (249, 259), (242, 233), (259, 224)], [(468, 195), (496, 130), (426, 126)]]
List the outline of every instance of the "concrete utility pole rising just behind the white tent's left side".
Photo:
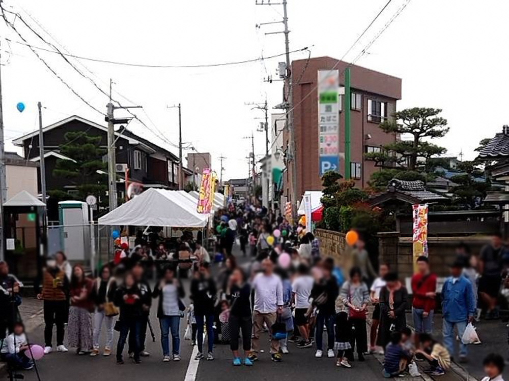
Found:
[[(109, 80), (109, 103), (106, 105), (106, 118), (108, 122), (108, 199), (109, 211), (117, 208), (117, 170), (116, 170), (116, 140), (115, 140), (115, 124), (127, 124), (131, 118), (117, 118), (115, 119), (114, 111), (116, 109), (134, 109), (142, 108), (142, 106), (114, 106), (111, 102), (111, 86), (113, 80)], [(127, 189), (125, 189), (127, 193)]]

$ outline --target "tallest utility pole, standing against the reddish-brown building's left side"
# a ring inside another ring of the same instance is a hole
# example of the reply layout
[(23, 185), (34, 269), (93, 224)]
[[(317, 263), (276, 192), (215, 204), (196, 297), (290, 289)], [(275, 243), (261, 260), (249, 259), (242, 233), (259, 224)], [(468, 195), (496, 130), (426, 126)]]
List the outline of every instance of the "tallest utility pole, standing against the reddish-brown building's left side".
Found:
[[(295, 131), (293, 126), (293, 78), (292, 71), (290, 70), (290, 42), (288, 39), (288, 35), (290, 34), (290, 30), (288, 29), (288, 12), (287, 12), (287, 0), (282, 0), (281, 3), (264, 3), (263, 0), (259, 3), (258, 0), (256, 5), (282, 5), (283, 6), (283, 19), (282, 23), (284, 25), (284, 30), (269, 32), (266, 35), (274, 35), (283, 33), (285, 35), (285, 56), (286, 56), (286, 73), (285, 73), (285, 87), (284, 89), (288, 91), (288, 97), (285, 99), (286, 91), (283, 91), (283, 104), (286, 110), (286, 128), (289, 133), (289, 143), (290, 143), (290, 152), (289, 152), (289, 161), (291, 161), (292, 165), (292, 193), (293, 200), (292, 204), (294, 205), (293, 212), (297, 210), (297, 202), (299, 201), (299, 197), (297, 195), (297, 154), (296, 154), (296, 144), (295, 144)], [(274, 22), (267, 22), (265, 24), (272, 24)], [(264, 25), (258, 24), (258, 25)]]

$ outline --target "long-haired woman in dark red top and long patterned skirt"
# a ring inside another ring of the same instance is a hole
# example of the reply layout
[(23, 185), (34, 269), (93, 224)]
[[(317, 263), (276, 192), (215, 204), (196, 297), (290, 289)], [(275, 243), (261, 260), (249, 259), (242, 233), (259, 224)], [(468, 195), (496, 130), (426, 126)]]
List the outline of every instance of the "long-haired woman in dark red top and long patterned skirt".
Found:
[(92, 350), (92, 314), (94, 302), (91, 297), (92, 280), (85, 276), (83, 267), (72, 268), (69, 309), (69, 325), (67, 337), (69, 346), (76, 348), (78, 355), (90, 353)]

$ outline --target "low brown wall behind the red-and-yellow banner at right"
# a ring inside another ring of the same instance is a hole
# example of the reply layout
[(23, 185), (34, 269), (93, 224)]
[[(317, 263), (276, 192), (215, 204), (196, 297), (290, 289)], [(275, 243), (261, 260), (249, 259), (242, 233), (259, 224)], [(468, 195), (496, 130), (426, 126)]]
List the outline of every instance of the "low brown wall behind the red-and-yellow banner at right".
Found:
[[(455, 258), (455, 249), (461, 242), (470, 246), (471, 252), (478, 254), (480, 248), (489, 242), (487, 236), (467, 237), (429, 237), (428, 250), (431, 270), (439, 277), (449, 274), (449, 264)], [(402, 278), (413, 274), (412, 237), (400, 237), (398, 232), (378, 234), (380, 262), (386, 262), (398, 271)]]

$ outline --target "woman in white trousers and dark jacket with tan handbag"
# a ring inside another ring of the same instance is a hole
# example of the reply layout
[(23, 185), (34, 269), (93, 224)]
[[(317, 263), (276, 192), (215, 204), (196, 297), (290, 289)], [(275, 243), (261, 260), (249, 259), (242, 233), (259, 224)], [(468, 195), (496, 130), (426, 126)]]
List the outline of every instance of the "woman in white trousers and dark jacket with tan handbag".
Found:
[(115, 326), (115, 315), (117, 311), (113, 311), (111, 306), (115, 298), (117, 290), (117, 282), (111, 274), (111, 269), (105, 265), (101, 269), (100, 276), (95, 279), (92, 288), (92, 299), (95, 304), (94, 314), (94, 349), (90, 356), (99, 355), (99, 337), (101, 336), (101, 328), (104, 322), (106, 326), (106, 343), (104, 345), (103, 356), (111, 355), (111, 345), (113, 344), (113, 328)]

